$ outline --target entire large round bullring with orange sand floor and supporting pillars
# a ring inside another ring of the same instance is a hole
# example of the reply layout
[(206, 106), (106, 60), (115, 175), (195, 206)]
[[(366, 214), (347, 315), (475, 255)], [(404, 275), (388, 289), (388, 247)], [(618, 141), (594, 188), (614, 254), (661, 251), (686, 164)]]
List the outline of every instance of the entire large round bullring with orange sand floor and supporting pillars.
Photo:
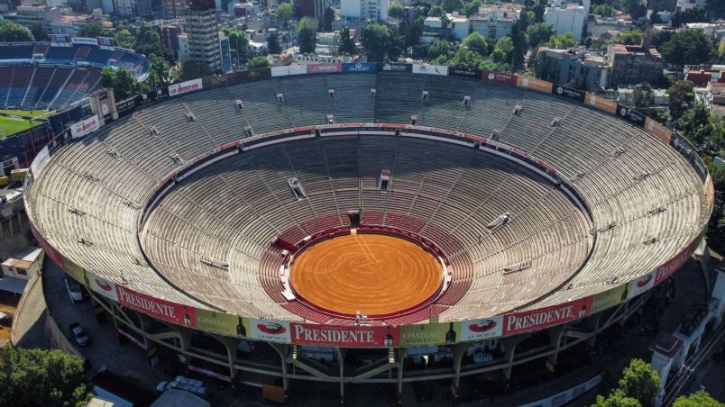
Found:
[(713, 204), (665, 126), (477, 69), (267, 68), (94, 112), (32, 163), (41, 246), (152, 364), (282, 393), (554, 369), (668, 283)]

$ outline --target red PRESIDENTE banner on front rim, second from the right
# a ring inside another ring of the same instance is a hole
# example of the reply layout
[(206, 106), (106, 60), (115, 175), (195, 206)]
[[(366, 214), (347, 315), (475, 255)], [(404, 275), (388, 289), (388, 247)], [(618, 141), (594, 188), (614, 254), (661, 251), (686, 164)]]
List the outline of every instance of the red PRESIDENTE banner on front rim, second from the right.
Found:
[(580, 298), (550, 307), (516, 312), (503, 316), (503, 335), (515, 335), (530, 330), (541, 330), (560, 323), (578, 320), (590, 315), (592, 297)]

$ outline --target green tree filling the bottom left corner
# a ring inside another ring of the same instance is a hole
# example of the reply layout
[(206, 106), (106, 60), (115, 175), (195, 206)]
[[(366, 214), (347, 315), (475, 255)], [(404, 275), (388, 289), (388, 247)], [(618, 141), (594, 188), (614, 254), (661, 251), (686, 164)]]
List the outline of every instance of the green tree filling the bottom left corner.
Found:
[(0, 348), (0, 405), (85, 406), (83, 361), (58, 349)]

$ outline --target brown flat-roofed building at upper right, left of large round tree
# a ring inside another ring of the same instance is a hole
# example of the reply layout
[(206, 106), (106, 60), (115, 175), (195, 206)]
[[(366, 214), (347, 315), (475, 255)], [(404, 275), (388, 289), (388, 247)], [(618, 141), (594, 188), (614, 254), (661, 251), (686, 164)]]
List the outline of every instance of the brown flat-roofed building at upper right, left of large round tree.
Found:
[(662, 77), (664, 61), (654, 47), (611, 44), (609, 87), (655, 83)]

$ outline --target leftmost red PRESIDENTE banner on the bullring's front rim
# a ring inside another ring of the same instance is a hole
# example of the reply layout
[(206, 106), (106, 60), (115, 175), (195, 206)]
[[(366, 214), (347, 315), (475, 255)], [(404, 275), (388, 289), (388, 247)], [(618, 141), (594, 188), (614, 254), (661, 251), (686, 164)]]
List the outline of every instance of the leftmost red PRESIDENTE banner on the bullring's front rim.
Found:
[(194, 307), (153, 298), (122, 285), (116, 285), (115, 290), (116, 295), (118, 295), (118, 302), (129, 308), (179, 325), (192, 328), (197, 326)]

